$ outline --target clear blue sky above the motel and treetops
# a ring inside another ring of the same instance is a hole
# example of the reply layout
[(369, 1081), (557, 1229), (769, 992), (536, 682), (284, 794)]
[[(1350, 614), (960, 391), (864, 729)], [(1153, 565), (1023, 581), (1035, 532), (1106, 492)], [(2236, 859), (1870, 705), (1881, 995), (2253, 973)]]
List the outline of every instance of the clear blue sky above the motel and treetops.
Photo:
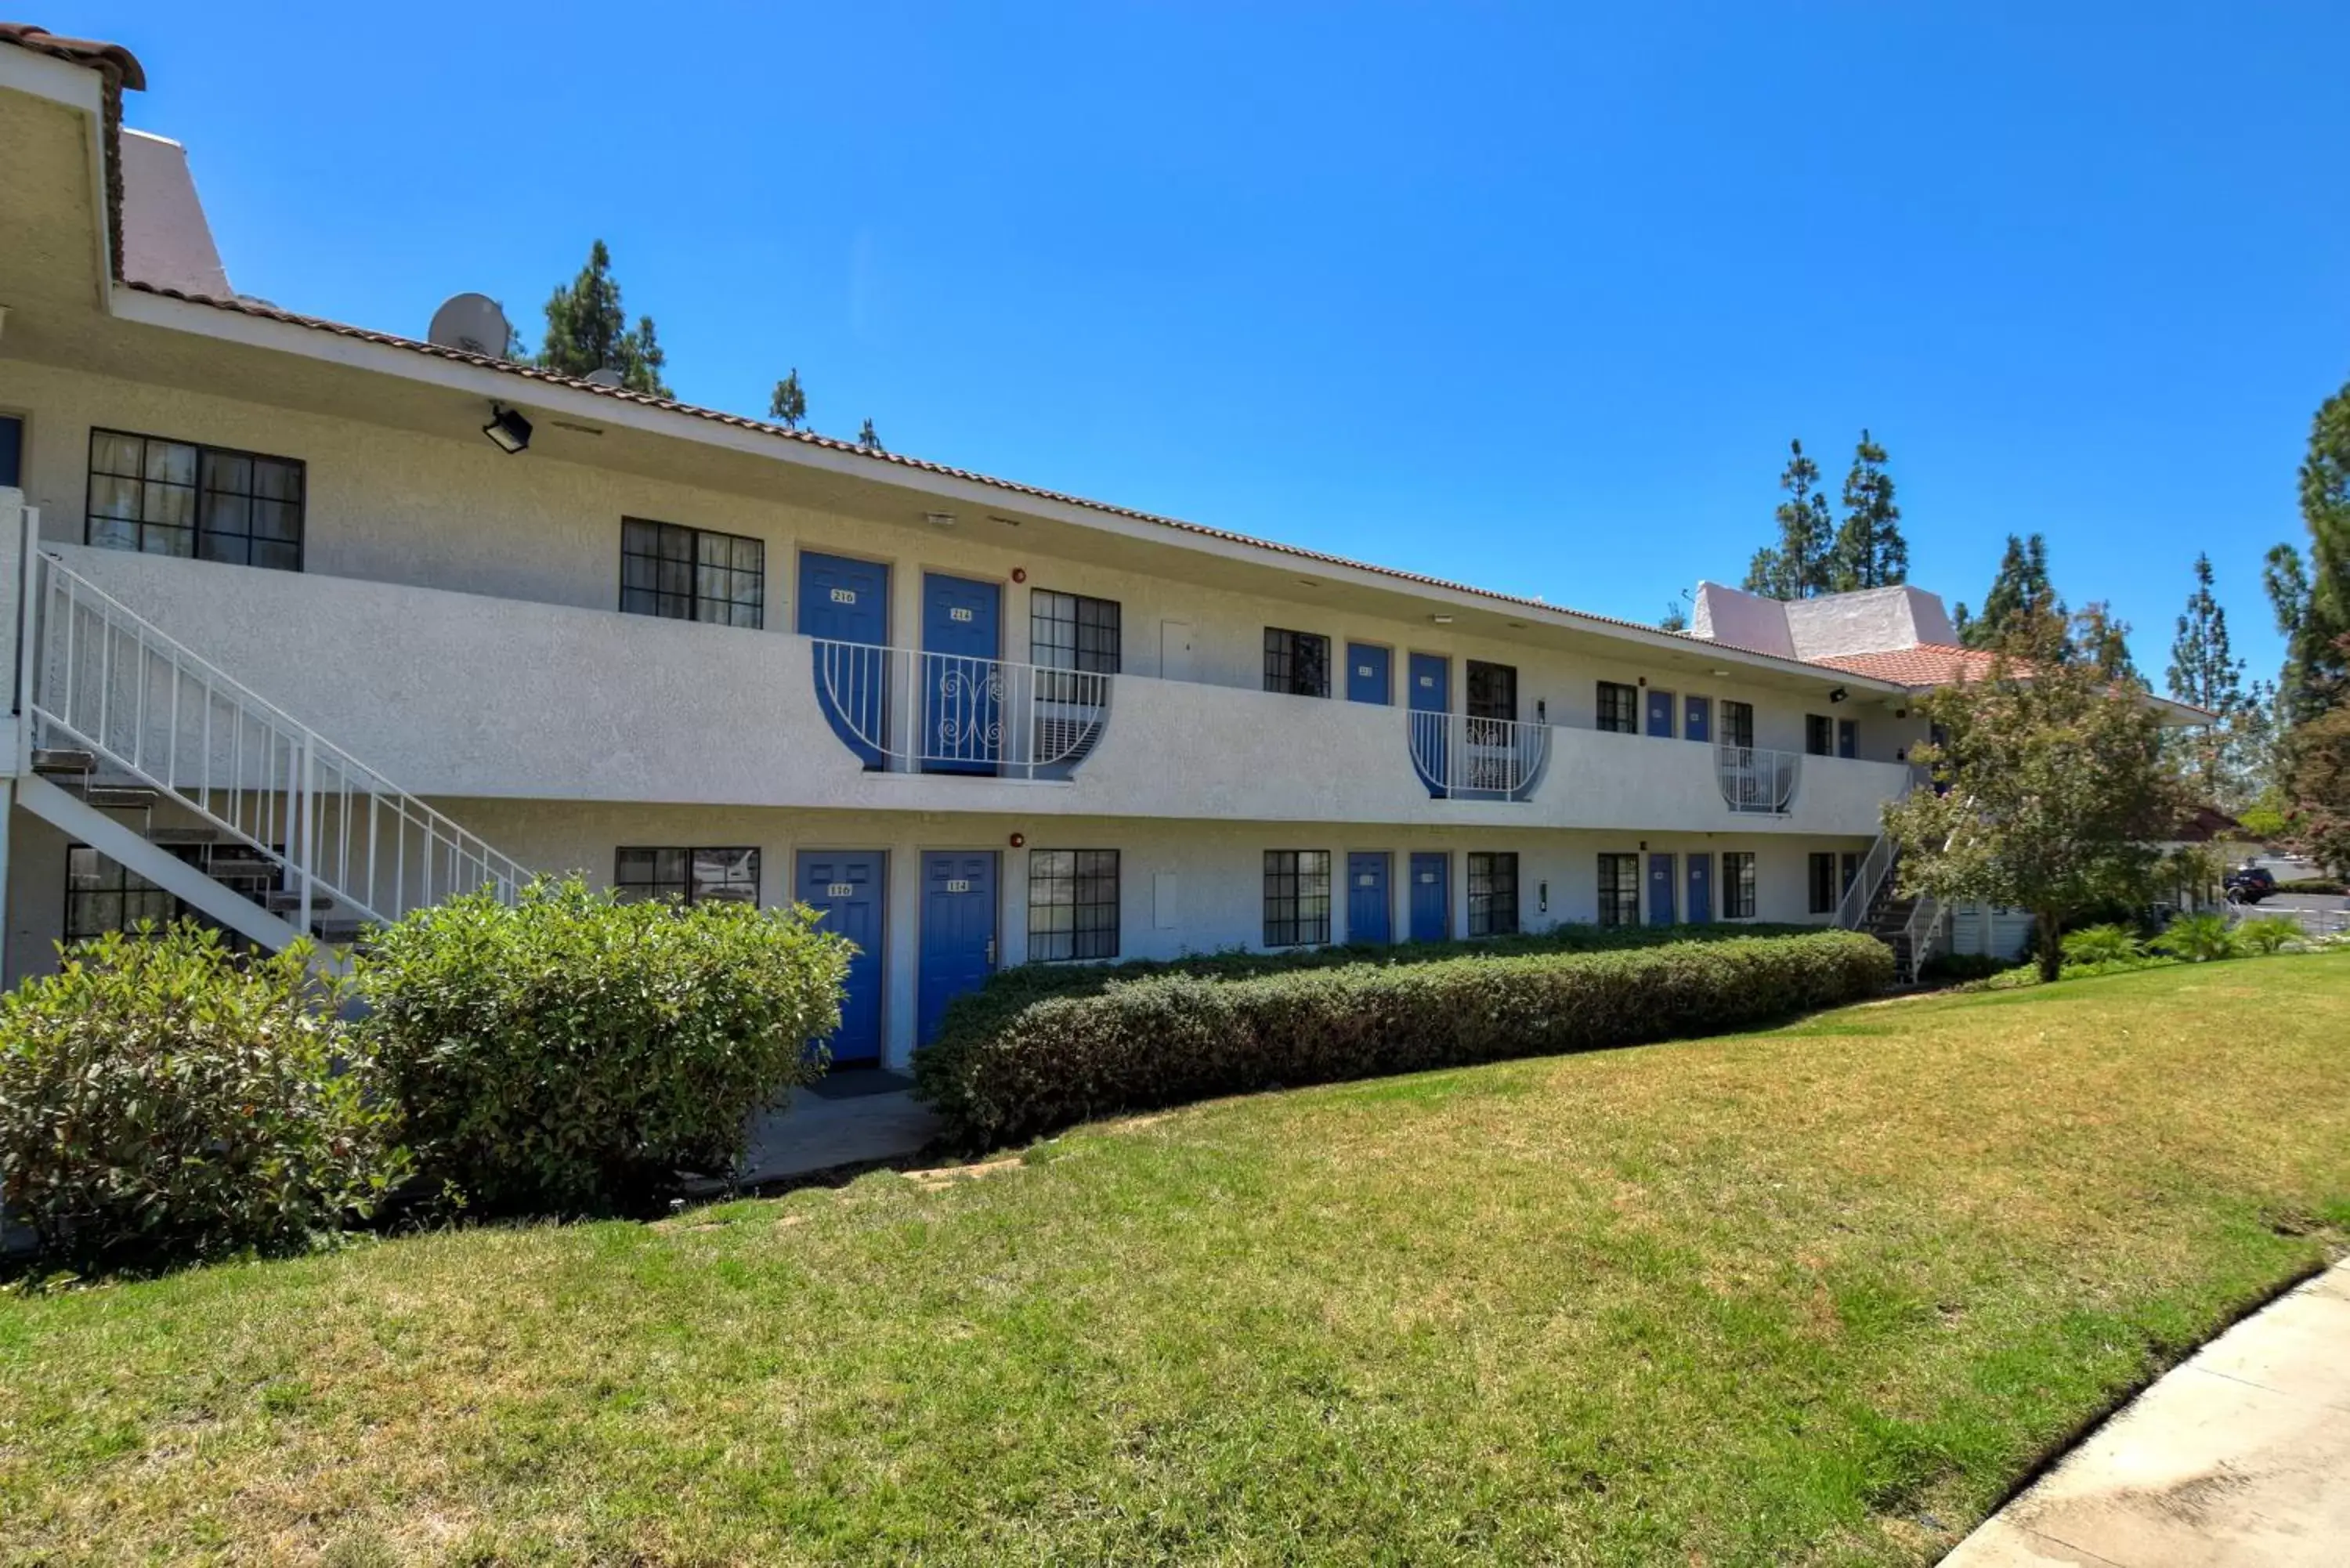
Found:
[(1913, 581), (2040, 529), (2160, 682), (2209, 550), (2272, 675), (2350, 378), (2338, 0), (38, 12), (242, 292), (536, 341), (602, 235), (689, 402), (1643, 621), (1868, 425)]

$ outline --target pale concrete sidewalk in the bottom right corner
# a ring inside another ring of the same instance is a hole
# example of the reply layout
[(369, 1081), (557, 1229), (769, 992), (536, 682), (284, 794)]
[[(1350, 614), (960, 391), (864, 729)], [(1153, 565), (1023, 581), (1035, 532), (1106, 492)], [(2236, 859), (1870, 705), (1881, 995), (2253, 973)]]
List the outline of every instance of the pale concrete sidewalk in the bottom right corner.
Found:
[(2244, 1319), (1943, 1568), (2350, 1563), (2350, 1260)]

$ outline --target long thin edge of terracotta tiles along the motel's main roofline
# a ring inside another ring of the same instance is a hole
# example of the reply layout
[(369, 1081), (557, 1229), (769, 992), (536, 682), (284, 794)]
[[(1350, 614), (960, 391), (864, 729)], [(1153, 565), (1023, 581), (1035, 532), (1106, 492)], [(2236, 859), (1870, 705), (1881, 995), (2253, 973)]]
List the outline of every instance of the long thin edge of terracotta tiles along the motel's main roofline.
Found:
[[(940, 475), (940, 477), (947, 477), (947, 480), (964, 480), (968, 484), (985, 484), (989, 489), (1001, 489), (1001, 491), (1008, 491), (1008, 494), (1015, 494), (1015, 496), (1029, 496), (1034, 501), (1053, 501), (1058, 505), (1076, 505), (1076, 508), (1083, 508), (1088, 512), (1104, 512), (1104, 515), (1112, 515), (1112, 517), (1130, 517), (1135, 522), (1149, 522), (1154, 527), (1175, 529), (1180, 534), (1194, 534), (1198, 538), (1220, 538), (1224, 543), (1250, 545), (1255, 550), (1274, 550), (1278, 555), (1292, 555), (1297, 559), (1318, 562), (1323, 567), (1347, 567), (1351, 571), (1372, 571), (1372, 574), (1379, 574), (1379, 576), (1386, 576), (1386, 578), (1396, 578), (1396, 581), (1403, 581), (1403, 583), (1415, 583), (1419, 588), (1441, 588), (1445, 592), (1476, 595), (1480, 599), (1492, 599), (1497, 604), (1511, 604), (1511, 607), (1518, 607), (1518, 609), (1532, 609), (1532, 611), (1544, 611), (1544, 614), (1553, 614), (1553, 616), (1574, 616), (1577, 621), (1593, 621), (1598, 625), (1629, 628), (1629, 630), (1650, 632), (1650, 635), (1657, 635), (1657, 637), (1673, 635), (1673, 632), (1659, 632), (1654, 625), (1643, 625), (1640, 621), (1619, 621), (1614, 616), (1596, 616), (1591, 611), (1567, 609), (1565, 604), (1551, 604), (1549, 599), (1525, 599), (1525, 597), (1509, 595), (1509, 592), (1495, 592), (1490, 588), (1476, 588), (1471, 583), (1452, 583), (1448, 578), (1422, 576), (1417, 571), (1401, 571), (1396, 567), (1377, 567), (1377, 564), (1370, 564), (1370, 562), (1347, 559), (1344, 555), (1325, 555), (1323, 550), (1307, 550), (1304, 545), (1285, 545), (1285, 543), (1281, 543), (1276, 538), (1255, 538), (1250, 534), (1234, 534), (1229, 529), (1213, 529), (1213, 527), (1208, 527), (1203, 522), (1184, 522), (1180, 517), (1161, 517), (1156, 512), (1140, 512), (1135, 508), (1112, 505), (1107, 501), (1088, 501), (1083, 496), (1072, 496), (1072, 494), (1055, 491), (1055, 489), (1041, 489), (1036, 484), (1020, 484), (1018, 480), (999, 480), (994, 475), (973, 473), (968, 468), (952, 468), (947, 463), (931, 463), (926, 458), (914, 458), (914, 456), (907, 456), (902, 451), (874, 451), (870, 447), (858, 447), (855, 442), (844, 442), (844, 440), (832, 437), (832, 435), (818, 435), (813, 430), (787, 430), (785, 425), (776, 425), (776, 423), (768, 423), (764, 418), (745, 418), (743, 414), (726, 414), (724, 409), (705, 409), (705, 407), (698, 407), (698, 404), (691, 404), (691, 402), (677, 402), (672, 397), (653, 397), (651, 393), (632, 393), (632, 390), (618, 388), (618, 386), (599, 386), (595, 381), (580, 381), (580, 378), (566, 376), (562, 371), (538, 369), (536, 364), (517, 364), (512, 360), (498, 360), (498, 357), (491, 357), (491, 355), (477, 355), (477, 353), (468, 353), (463, 348), (444, 348), (442, 343), (425, 343), (421, 339), (404, 339), (404, 336), (392, 334), (392, 331), (376, 331), (371, 327), (352, 327), (348, 322), (331, 322), (331, 320), (317, 317), (317, 315), (301, 315), (301, 313), (294, 313), (294, 310), (280, 310), (277, 306), (266, 306), (266, 303), (251, 301), (251, 299), (214, 299), (214, 296), (207, 296), (207, 294), (188, 294), (188, 292), (167, 289), (167, 287), (153, 284), (153, 282), (139, 282), (136, 277), (125, 280), (125, 287), (139, 289), (141, 294), (157, 294), (157, 296), (164, 296), (164, 299), (179, 299), (179, 301), (190, 303), (190, 306), (212, 306), (214, 310), (233, 310), (237, 315), (254, 315), (254, 317), (270, 320), (270, 322), (287, 322), (291, 327), (308, 327), (313, 331), (331, 331), (336, 336), (357, 339), (362, 343), (383, 343), (385, 348), (407, 348), (411, 353), (432, 355), (435, 360), (454, 360), (458, 364), (475, 364), (475, 367), (482, 367), (482, 369), (501, 371), (505, 376), (519, 376), (524, 381), (540, 381), (545, 386), (559, 386), (559, 388), (566, 388), (566, 390), (573, 390), (573, 393), (592, 393), (595, 397), (609, 397), (613, 402), (632, 402), (632, 404), (642, 404), (642, 407), (649, 407), (649, 409), (667, 409), (670, 414), (689, 414), (693, 418), (707, 418), (710, 423), (717, 423), (717, 425), (731, 425), (736, 430), (754, 430), (759, 435), (773, 435), (778, 440), (801, 442), (806, 447), (820, 447), (825, 451), (839, 451), (839, 454), (865, 458), (865, 461), (872, 461), (872, 463), (895, 463), (898, 468), (912, 468), (916, 473)], [(1708, 649), (1708, 646), (1730, 649), (1730, 651), (1737, 651), (1737, 654), (1751, 654), (1755, 658), (1770, 658), (1770, 661), (1781, 663), (1781, 665), (1795, 665), (1795, 668), (1805, 665), (1805, 661), (1800, 661), (1800, 658), (1786, 658), (1786, 656), (1779, 656), (1779, 654), (1762, 654), (1760, 649), (1739, 649), (1737, 644), (1727, 644), (1727, 642), (1704, 642), (1704, 639), (1697, 639), (1697, 637), (1690, 637), (1690, 642), (1694, 646), (1701, 646), (1701, 649)], [(1812, 668), (1819, 668), (1819, 665), (1814, 663)], [(1859, 670), (1847, 670), (1847, 675), (1861, 675), (1861, 672)]]

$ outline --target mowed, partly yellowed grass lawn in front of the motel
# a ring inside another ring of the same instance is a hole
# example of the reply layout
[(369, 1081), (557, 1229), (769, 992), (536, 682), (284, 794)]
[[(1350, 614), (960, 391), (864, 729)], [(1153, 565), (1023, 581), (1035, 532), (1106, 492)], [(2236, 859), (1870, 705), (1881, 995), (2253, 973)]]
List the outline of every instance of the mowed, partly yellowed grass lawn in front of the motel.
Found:
[(2350, 961), (0, 1300), (19, 1561), (1922, 1563), (2350, 1232)]

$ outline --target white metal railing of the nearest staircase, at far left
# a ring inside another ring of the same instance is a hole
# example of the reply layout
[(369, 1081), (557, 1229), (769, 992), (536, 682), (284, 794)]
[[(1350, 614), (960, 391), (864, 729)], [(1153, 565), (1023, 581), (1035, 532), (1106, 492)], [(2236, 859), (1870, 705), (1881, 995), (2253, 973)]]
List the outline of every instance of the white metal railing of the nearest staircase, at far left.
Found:
[[(31, 543), (31, 529), (28, 529)], [(56, 555), (26, 550), (19, 679), (31, 769), (82, 748), (284, 867), (289, 922), (385, 924), (475, 889), (531, 882), (425, 802), (219, 670)], [(273, 905), (275, 907), (275, 905)]]

